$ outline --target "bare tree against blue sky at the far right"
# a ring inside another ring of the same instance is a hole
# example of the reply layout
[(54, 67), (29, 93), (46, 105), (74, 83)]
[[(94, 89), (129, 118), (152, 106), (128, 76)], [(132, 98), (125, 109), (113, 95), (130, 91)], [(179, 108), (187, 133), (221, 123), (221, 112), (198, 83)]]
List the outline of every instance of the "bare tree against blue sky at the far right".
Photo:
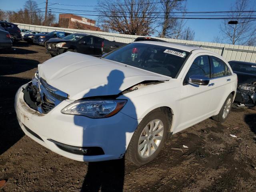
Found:
[(244, 14), (241, 11), (248, 11), (250, 8), (249, 0), (236, 0), (234, 6), (230, 8), (232, 12), (229, 17), (234, 18), (233, 20), (238, 21), (238, 24), (228, 24), (229, 20), (224, 20), (220, 25), (222, 36), (227, 43), (230, 44), (255, 44), (256, 40), (256, 25), (250, 20), (240, 19), (241, 17), (252, 18), (253, 12), (247, 12)]

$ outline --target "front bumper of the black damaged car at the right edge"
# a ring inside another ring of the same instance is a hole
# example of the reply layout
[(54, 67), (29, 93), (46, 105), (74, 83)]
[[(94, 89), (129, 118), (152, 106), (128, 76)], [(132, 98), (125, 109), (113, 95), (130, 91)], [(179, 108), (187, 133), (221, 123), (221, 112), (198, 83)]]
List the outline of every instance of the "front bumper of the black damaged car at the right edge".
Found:
[(248, 107), (254, 107), (256, 106), (256, 92), (250, 92), (237, 88), (234, 102), (242, 103)]

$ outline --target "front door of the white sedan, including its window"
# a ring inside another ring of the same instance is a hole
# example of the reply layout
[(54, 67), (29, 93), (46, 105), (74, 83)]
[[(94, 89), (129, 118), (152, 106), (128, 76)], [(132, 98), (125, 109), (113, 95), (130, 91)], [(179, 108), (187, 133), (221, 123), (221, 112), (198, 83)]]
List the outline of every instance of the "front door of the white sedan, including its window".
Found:
[(211, 115), (210, 105), (214, 94), (211, 81), (209, 85), (194, 85), (188, 82), (191, 75), (210, 78), (210, 59), (206, 54), (196, 54), (182, 78), (182, 98), (180, 100), (180, 122), (177, 130), (196, 124)]

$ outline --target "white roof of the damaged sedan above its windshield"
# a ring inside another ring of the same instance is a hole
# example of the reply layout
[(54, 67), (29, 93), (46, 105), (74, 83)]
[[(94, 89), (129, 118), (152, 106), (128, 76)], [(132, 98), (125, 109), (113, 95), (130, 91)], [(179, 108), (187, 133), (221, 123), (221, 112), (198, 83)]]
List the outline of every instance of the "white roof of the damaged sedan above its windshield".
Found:
[[(160, 46), (166, 46), (166, 47), (170, 47), (170, 48), (175, 48), (175, 49), (180, 49), (180, 50), (184, 50), (184, 51), (188, 51), (191, 52), (193, 50), (205, 50), (202, 49), (200, 47), (196, 47), (196, 46), (190, 46), (190, 45), (181, 45), (181, 44), (175, 44), (175, 43), (169, 43), (169, 42), (158, 42), (158, 41), (136, 41), (136, 42), (132, 42), (132, 43), (146, 43), (146, 44), (153, 44), (153, 45), (160, 45)], [(210, 52), (210, 51), (209, 51)]]

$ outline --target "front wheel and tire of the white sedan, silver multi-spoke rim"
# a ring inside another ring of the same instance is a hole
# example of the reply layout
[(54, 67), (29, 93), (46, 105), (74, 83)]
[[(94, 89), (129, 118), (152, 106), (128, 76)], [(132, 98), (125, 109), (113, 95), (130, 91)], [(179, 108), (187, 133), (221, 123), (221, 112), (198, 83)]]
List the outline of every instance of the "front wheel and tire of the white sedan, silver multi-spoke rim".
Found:
[(126, 150), (126, 158), (136, 165), (152, 161), (164, 146), (171, 122), (167, 108), (148, 113), (134, 131)]

